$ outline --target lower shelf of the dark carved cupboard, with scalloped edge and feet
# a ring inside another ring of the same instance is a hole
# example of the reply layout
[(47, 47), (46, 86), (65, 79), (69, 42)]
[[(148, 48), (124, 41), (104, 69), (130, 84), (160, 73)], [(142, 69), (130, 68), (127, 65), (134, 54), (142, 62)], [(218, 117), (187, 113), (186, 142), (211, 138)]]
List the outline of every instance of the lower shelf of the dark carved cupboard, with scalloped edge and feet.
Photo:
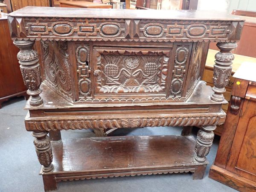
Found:
[[(192, 136), (93, 137), (52, 141), (53, 172), (43, 173), (45, 190), (57, 181), (195, 172), (201, 179), (208, 162), (194, 159)], [(52, 181), (51, 181), (52, 180)]]

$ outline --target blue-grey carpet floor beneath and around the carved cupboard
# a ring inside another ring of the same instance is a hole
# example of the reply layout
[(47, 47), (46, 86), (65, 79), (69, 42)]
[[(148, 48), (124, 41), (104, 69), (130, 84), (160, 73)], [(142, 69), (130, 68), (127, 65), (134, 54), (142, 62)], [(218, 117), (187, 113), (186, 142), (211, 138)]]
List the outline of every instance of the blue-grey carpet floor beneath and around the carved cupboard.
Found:
[[(23, 110), (26, 101), (15, 98), (0, 109), (0, 192), (43, 192), (43, 180), (33, 137), (26, 131)], [(113, 135), (179, 135), (181, 128), (120, 129)], [(196, 135), (196, 130), (193, 131)], [(90, 130), (61, 131), (62, 139), (94, 137)], [(106, 179), (60, 182), (59, 192), (232, 192), (236, 191), (208, 177), (219, 138), (215, 137), (208, 155), (209, 165), (202, 180), (192, 180), (191, 174), (145, 175)]]

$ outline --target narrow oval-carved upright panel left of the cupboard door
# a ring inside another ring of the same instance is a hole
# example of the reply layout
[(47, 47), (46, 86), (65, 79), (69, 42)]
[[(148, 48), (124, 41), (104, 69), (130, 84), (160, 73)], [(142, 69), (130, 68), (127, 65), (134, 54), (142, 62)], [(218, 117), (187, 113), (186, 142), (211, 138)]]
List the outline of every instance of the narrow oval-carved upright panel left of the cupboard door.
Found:
[(89, 45), (76, 44), (76, 61), (79, 98), (86, 99), (92, 92)]

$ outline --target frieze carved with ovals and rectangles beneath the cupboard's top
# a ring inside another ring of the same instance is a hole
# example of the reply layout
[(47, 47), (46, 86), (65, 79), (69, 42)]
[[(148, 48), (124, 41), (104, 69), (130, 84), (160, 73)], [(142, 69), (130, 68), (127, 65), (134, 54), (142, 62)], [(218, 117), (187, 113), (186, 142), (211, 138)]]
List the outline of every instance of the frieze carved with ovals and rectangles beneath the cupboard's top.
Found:
[[(116, 18), (41, 18), (9, 16), (20, 23), (13, 38), (79, 41), (235, 41), (243, 22), (215, 20), (154, 20)], [(20, 36), (22, 34), (22, 36)]]

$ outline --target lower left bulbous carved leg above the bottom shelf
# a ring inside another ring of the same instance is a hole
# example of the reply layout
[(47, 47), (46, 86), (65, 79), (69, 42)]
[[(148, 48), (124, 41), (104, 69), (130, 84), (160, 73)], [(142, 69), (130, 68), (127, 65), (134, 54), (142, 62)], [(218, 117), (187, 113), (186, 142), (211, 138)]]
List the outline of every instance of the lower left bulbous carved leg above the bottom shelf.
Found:
[(34, 145), (40, 164), (43, 166), (43, 172), (51, 172), (52, 165), (52, 146), (47, 131), (33, 131), (32, 136), (35, 137)]

